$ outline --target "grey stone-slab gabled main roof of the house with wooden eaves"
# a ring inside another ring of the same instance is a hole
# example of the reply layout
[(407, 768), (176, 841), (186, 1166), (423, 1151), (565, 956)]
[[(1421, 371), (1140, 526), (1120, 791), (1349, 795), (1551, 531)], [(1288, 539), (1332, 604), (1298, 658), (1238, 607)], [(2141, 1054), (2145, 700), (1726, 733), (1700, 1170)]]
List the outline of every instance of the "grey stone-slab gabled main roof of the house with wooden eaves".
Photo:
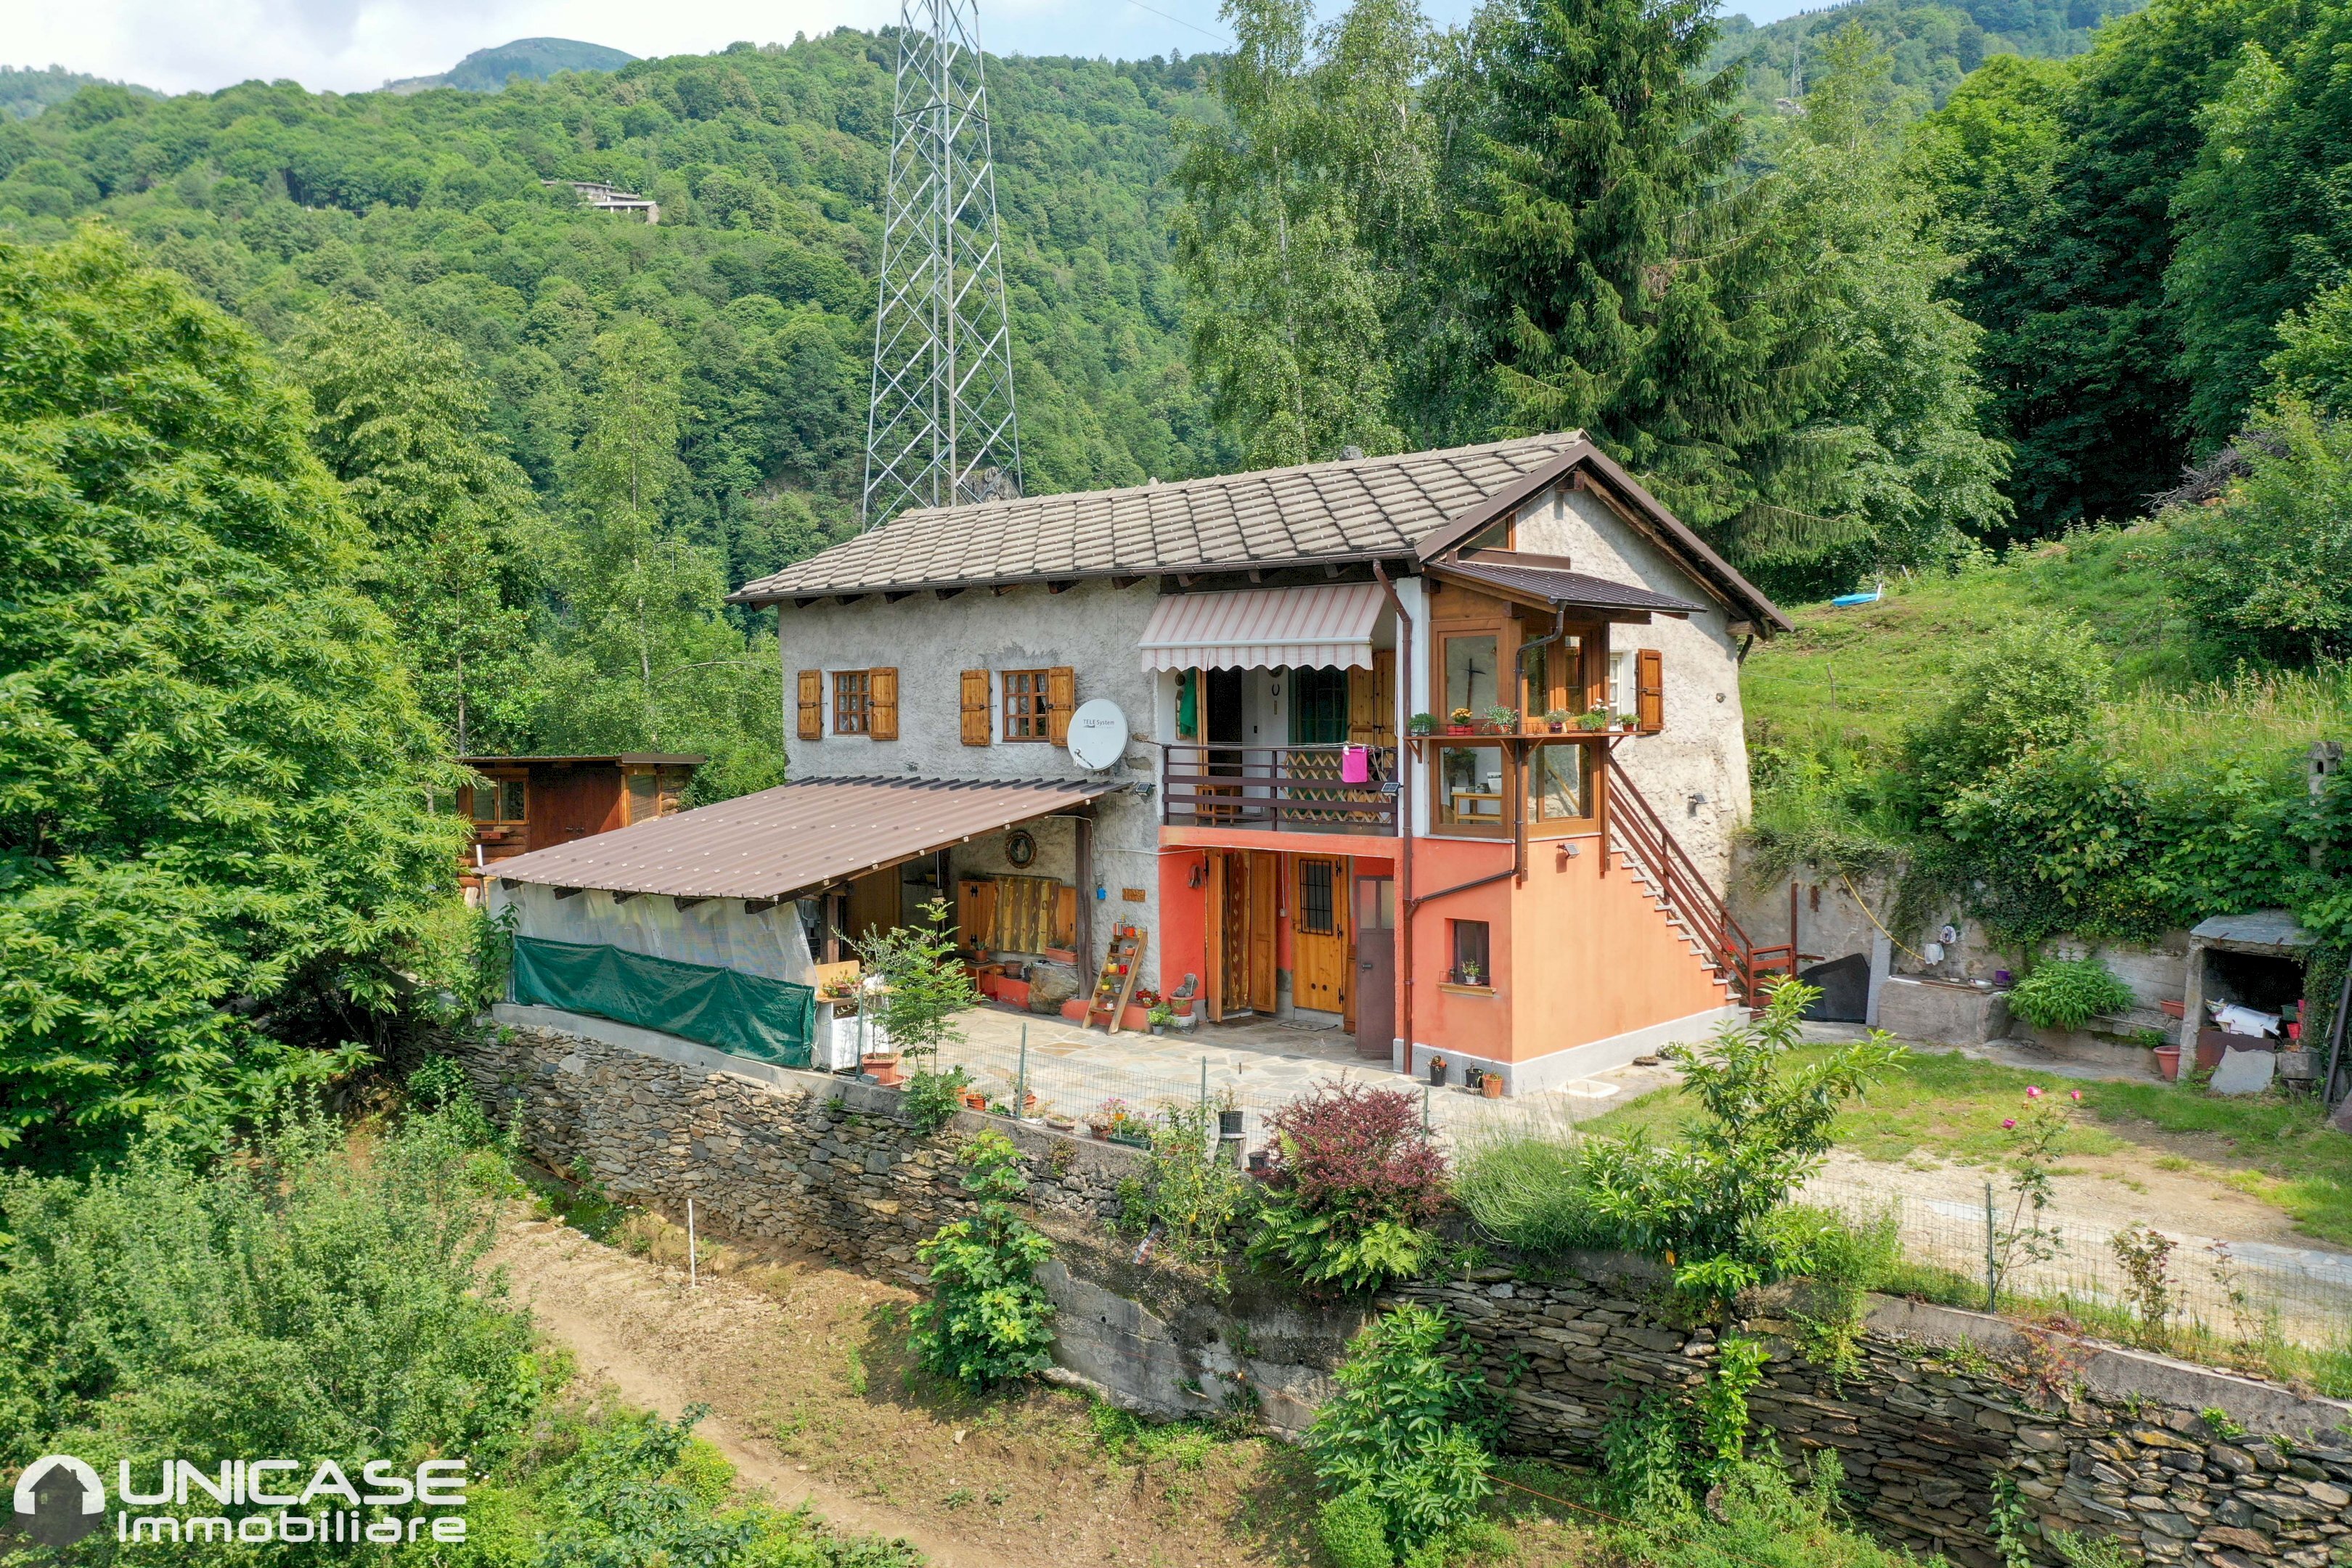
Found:
[[(1378, 562), (1392, 576), (1456, 574), (1501, 597), (1623, 618), (1700, 609), (1538, 557), (1505, 562), (1491, 550), (1465, 552), (1470, 538), (1562, 480), (1597, 496), (1677, 559), (1733, 621), (1762, 635), (1790, 630), (1762, 590), (1578, 430), (1174, 484), (920, 508), (746, 583), (729, 602), (809, 607), (924, 592), (946, 599), (978, 588), (1061, 592), (1084, 581), (1127, 588), (1143, 578), (1169, 590), (1247, 588), (1355, 578)], [(1501, 567), (1519, 574), (1501, 578)]]

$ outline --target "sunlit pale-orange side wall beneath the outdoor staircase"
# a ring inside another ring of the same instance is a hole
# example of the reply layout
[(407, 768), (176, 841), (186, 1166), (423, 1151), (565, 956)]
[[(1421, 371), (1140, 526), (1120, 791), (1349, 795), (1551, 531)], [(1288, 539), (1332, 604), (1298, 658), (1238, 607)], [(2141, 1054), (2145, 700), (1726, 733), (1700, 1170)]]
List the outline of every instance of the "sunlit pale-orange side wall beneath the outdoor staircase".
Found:
[[(1562, 844), (1583, 853), (1564, 858)], [(1538, 839), (1510, 929), (1512, 1060), (1724, 1006), (1724, 987), (1618, 860), (1602, 877), (1599, 839)]]

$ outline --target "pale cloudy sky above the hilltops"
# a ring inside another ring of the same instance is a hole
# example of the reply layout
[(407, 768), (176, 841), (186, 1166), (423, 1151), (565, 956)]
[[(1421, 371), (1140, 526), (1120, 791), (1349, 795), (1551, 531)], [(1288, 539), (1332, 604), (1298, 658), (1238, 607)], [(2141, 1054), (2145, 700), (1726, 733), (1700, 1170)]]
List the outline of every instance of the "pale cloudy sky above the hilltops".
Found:
[[(1442, 24), (1470, 14), (1470, 0), (1423, 5)], [(1218, 0), (983, 0), (981, 42), (993, 54), (1197, 54), (1225, 42), (1216, 9)], [(1762, 21), (1799, 7), (1745, 9)], [(790, 42), (795, 31), (896, 19), (898, 0), (0, 0), (0, 63), (66, 66), (162, 92), (247, 78), (362, 92), (447, 71), (513, 38), (706, 54), (739, 38)]]

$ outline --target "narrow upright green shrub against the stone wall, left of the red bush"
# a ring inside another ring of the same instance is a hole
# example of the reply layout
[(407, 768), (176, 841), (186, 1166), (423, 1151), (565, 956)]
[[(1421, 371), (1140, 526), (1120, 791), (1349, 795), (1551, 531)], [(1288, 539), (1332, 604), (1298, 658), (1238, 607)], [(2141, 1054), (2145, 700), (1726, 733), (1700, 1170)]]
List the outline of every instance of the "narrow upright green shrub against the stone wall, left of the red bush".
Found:
[(1037, 1286), (1037, 1265), (1054, 1244), (1011, 1211), (1028, 1192), (1021, 1150), (1004, 1133), (964, 1145), (964, 1192), (981, 1199), (971, 1220), (950, 1220), (915, 1248), (931, 1272), (931, 1300), (915, 1307), (915, 1356), (971, 1392), (1051, 1366), (1054, 1302)]

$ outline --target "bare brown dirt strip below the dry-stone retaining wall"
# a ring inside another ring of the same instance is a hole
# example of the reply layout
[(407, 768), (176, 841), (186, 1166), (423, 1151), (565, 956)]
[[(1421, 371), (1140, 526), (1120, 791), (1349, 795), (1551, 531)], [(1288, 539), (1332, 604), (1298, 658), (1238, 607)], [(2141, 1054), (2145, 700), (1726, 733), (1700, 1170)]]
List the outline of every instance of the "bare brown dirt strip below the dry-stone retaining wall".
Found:
[[(640, 1218), (656, 1258), (675, 1232)], [(494, 1260), (583, 1373), (696, 1432), (781, 1505), (913, 1542), (941, 1568), (1249, 1568), (1308, 1552), (1296, 1455), (1263, 1439), (1138, 1453), (1061, 1389), (971, 1401), (910, 1375), (913, 1293), (826, 1260), (703, 1244), (684, 1269), (517, 1218)]]

